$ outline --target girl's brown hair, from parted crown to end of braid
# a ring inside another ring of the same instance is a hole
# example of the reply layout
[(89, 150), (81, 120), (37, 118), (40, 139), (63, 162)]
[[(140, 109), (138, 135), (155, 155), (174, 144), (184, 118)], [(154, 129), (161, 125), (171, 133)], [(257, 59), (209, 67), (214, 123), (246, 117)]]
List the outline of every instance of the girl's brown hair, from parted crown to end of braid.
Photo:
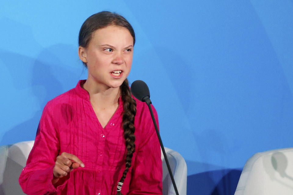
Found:
[[(79, 31), (78, 44), (81, 47), (87, 47), (89, 41), (92, 38), (92, 34), (95, 30), (104, 28), (110, 25), (115, 25), (119, 27), (125, 27), (129, 30), (131, 36), (133, 37), (133, 44), (135, 44), (135, 34), (130, 23), (121, 15), (112, 12), (99, 12), (88, 19), (82, 24)], [(86, 63), (84, 63), (87, 67)], [(124, 130), (125, 146), (127, 148), (126, 160), (125, 160), (125, 170), (119, 180), (117, 186), (117, 195), (122, 195), (121, 187), (126, 178), (128, 169), (131, 167), (131, 161), (133, 153), (135, 152), (135, 127), (134, 127), (134, 117), (136, 115), (136, 101), (131, 96), (131, 91), (129, 89), (128, 80), (125, 79), (120, 86), (121, 99), (123, 102), (123, 116), (122, 116), (122, 127)]]

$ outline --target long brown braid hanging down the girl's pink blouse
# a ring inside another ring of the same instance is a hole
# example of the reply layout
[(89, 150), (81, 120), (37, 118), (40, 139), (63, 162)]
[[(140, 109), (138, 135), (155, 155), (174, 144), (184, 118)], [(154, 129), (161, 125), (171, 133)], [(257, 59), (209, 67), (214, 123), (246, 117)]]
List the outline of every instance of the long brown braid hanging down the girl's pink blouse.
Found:
[[(122, 117), (122, 123), (123, 123), (122, 126), (124, 130), (125, 145), (127, 148), (125, 170), (119, 181), (123, 183), (124, 179), (126, 178), (126, 174), (129, 168), (131, 167), (132, 156), (135, 151), (134, 117), (136, 115), (136, 101), (131, 96), (127, 79), (125, 79), (122, 85), (120, 86), (120, 91), (121, 91), (121, 98), (123, 101), (123, 109), (124, 109), (124, 113)], [(120, 189), (121, 189), (121, 186), (120, 186)], [(117, 190), (119, 190), (119, 187), (117, 187)], [(121, 191), (118, 191), (116, 195), (122, 195)]]

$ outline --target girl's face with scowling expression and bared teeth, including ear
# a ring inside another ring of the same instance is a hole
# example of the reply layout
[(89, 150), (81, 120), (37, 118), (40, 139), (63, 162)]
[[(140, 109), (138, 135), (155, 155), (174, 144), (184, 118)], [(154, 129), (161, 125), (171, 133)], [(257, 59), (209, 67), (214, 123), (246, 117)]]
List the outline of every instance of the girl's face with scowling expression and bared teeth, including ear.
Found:
[(89, 81), (117, 88), (131, 69), (133, 38), (127, 28), (110, 25), (94, 31), (88, 46), (80, 46), (78, 54), (87, 64)]

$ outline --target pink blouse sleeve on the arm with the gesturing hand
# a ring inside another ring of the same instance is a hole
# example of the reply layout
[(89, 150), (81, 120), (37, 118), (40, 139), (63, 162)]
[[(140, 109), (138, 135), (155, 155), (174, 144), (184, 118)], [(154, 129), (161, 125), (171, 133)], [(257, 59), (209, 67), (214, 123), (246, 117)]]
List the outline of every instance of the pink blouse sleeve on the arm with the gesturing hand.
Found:
[[(47, 104), (42, 113), (34, 146), (19, 178), (20, 186), (26, 194), (56, 193), (52, 179), (60, 144), (55, 122), (52, 111)], [(62, 178), (63, 181), (65, 179)]]

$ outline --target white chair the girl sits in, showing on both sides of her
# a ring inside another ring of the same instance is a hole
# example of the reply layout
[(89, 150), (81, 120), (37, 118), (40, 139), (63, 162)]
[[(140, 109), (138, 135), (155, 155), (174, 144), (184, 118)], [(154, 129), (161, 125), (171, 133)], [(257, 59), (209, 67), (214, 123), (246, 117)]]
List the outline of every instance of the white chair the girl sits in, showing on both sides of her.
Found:
[[(0, 147), (0, 194), (24, 194), (18, 178), (24, 168), (34, 141), (24, 141), (13, 145)], [(183, 157), (176, 151), (165, 147), (167, 157), (172, 169), (179, 195), (186, 195), (187, 167)], [(171, 178), (162, 156), (163, 165), (163, 195), (175, 194)]]

